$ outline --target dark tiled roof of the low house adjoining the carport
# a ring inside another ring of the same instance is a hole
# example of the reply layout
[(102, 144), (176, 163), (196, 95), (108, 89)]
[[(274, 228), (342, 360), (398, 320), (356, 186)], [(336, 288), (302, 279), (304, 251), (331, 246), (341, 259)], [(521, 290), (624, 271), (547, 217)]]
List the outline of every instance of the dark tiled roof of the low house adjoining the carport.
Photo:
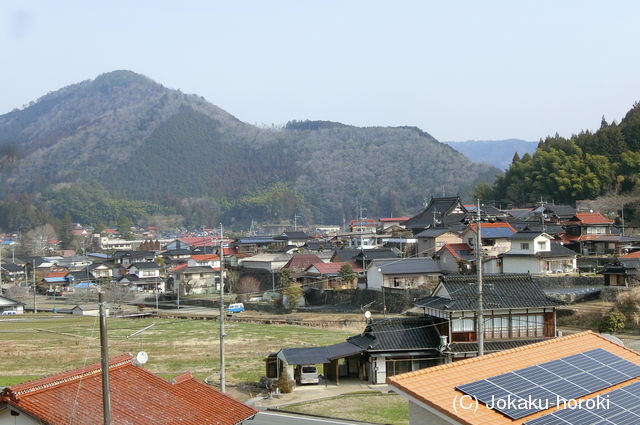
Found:
[(374, 320), (347, 341), (368, 352), (424, 350), (436, 349), (440, 334), (430, 317), (394, 317)]

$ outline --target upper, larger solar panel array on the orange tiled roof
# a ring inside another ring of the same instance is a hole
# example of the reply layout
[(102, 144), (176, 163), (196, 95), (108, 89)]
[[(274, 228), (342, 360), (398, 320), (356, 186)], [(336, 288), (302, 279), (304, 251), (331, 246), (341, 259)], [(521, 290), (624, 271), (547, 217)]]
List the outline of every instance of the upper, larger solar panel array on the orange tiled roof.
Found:
[(456, 389), (511, 419), (520, 419), (638, 376), (640, 366), (596, 348)]

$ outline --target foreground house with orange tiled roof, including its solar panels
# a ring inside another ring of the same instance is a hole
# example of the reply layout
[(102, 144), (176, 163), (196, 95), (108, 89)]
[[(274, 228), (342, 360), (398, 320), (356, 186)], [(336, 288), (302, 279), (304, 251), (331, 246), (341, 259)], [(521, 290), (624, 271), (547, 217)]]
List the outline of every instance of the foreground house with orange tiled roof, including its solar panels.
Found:
[(587, 331), (387, 384), (408, 400), (410, 425), (622, 425), (640, 423), (639, 377), (640, 353)]

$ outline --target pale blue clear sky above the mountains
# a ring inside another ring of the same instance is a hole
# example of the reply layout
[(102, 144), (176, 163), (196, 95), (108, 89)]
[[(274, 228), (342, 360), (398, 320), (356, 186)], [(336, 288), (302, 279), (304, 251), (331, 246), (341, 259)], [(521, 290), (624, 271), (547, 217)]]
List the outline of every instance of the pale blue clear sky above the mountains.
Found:
[(0, 114), (117, 70), (240, 120), (539, 140), (640, 100), (637, 1), (0, 4)]

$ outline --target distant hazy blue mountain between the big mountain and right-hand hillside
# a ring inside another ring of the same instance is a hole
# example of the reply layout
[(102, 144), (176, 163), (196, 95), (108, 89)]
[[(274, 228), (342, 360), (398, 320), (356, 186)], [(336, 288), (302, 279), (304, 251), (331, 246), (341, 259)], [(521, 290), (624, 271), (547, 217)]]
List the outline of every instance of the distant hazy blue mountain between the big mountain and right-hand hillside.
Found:
[(525, 153), (532, 154), (538, 146), (535, 142), (527, 142), (521, 139), (506, 140), (467, 140), (465, 142), (442, 142), (474, 162), (493, 165), (494, 167), (506, 170), (511, 165), (513, 155), (518, 153), (522, 156)]

